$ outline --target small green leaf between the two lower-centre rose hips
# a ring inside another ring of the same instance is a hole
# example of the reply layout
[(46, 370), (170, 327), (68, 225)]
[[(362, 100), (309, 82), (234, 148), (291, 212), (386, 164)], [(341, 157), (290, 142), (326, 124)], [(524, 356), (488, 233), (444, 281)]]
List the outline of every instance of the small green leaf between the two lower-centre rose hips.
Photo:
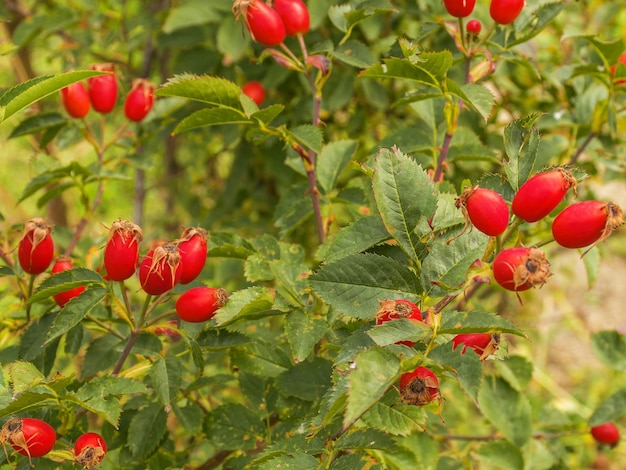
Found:
[(478, 391), (482, 380), (483, 364), (478, 354), (470, 349), (461, 354), (460, 349), (452, 350), (453, 344), (446, 343), (432, 350), (429, 357), (440, 364), (452, 368), (465, 393), (474, 401), (478, 399)]

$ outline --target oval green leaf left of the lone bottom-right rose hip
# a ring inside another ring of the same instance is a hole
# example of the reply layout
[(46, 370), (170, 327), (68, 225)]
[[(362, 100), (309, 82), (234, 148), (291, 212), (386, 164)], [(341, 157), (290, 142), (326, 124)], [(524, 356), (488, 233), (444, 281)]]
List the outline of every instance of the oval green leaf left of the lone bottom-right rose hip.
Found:
[(480, 410), (504, 437), (518, 447), (530, 439), (531, 408), (526, 395), (498, 377), (486, 377), (478, 394)]

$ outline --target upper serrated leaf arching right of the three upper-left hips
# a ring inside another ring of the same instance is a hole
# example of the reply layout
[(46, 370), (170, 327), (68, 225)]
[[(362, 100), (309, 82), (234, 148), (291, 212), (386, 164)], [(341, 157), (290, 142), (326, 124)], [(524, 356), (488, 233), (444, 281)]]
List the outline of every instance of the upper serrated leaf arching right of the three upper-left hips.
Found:
[(156, 90), (157, 96), (176, 96), (215, 106), (241, 109), (241, 88), (230, 80), (208, 75), (176, 75)]

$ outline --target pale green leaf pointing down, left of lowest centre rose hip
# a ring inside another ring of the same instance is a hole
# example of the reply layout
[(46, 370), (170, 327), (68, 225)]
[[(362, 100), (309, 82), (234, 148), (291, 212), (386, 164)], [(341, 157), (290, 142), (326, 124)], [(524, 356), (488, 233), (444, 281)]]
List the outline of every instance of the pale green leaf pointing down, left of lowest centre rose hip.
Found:
[(400, 373), (400, 360), (386, 349), (374, 347), (357, 355), (348, 375), (348, 406), (344, 429), (382, 398)]

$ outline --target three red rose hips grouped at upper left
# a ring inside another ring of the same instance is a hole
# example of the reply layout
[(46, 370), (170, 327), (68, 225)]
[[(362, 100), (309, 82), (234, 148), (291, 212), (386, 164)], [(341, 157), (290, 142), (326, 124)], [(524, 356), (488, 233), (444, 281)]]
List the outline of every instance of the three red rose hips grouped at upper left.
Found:
[[(76, 82), (61, 90), (65, 110), (76, 119), (87, 116), (91, 107), (100, 114), (108, 114), (117, 104), (118, 86), (113, 65), (94, 64), (90, 68), (107, 73), (88, 78), (86, 89), (82, 82)], [(149, 80), (133, 80), (124, 101), (124, 114), (129, 120), (140, 122), (148, 115), (154, 104), (154, 90)]]

